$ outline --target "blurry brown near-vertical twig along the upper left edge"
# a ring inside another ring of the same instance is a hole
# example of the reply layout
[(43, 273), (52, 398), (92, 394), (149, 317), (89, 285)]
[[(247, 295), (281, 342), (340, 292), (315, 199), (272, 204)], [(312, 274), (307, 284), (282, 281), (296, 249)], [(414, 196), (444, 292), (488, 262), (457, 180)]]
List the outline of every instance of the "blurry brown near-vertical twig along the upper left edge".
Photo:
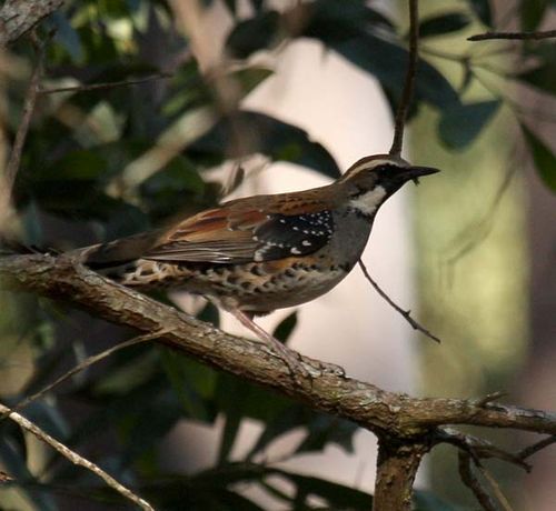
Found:
[[(37, 41), (37, 38), (34, 37), (33, 40)], [(29, 126), (31, 124), (34, 104), (37, 103), (39, 81), (41, 79), (42, 64), (44, 62), (46, 46), (47, 42), (37, 42), (37, 64), (34, 66), (31, 80), (29, 81), (21, 122), (19, 124), (18, 132), (16, 133), (16, 140), (13, 142), (13, 148), (11, 149), (10, 160), (6, 167), (4, 193), (8, 200), (11, 198), (11, 190), (13, 188), (13, 183), (16, 182), (16, 176), (18, 174), (19, 166), (21, 163), (21, 153), (26, 143), (27, 133), (29, 132)]]

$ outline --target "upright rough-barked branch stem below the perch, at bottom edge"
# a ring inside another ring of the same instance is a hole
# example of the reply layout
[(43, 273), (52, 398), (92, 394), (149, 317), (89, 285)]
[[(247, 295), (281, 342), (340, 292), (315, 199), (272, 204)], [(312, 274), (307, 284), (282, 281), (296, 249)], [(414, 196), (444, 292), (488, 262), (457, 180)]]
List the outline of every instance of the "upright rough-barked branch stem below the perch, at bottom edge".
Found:
[(411, 509), (415, 475), (421, 458), (429, 449), (430, 445), (426, 443), (399, 443), (388, 438), (380, 439), (373, 509)]

